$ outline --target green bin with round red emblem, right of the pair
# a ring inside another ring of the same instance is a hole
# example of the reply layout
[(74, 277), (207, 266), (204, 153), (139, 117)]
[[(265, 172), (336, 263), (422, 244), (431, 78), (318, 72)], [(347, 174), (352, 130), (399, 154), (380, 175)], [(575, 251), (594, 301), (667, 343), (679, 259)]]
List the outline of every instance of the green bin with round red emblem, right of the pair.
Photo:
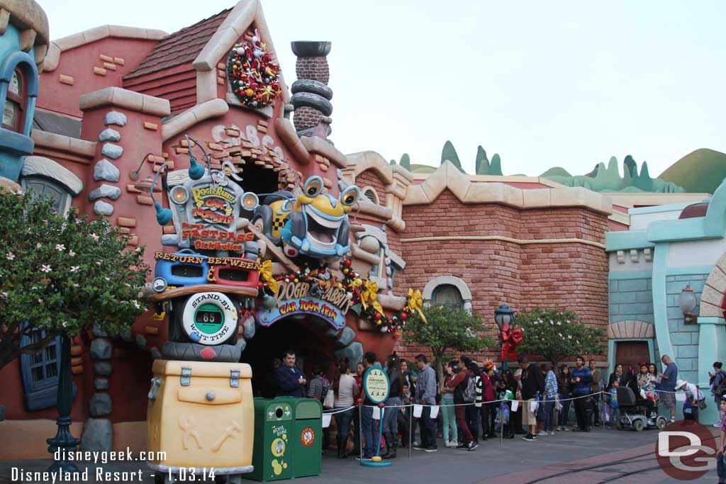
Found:
[(320, 475), (322, 470), (322, 404), (316, 398), (293, 399), (294, 477)]

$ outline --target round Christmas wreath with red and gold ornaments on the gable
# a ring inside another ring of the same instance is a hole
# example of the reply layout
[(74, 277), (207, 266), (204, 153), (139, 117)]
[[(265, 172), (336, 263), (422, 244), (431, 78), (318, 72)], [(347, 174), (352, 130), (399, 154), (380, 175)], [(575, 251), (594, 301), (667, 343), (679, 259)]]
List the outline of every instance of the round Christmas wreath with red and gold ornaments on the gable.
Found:
[(232, 92), (248, 107), (265, 107), (282, 94), (280, 66), (272, 62), (257, 30), (251, 42), (234, 44), (227, 59), (227, 76)]

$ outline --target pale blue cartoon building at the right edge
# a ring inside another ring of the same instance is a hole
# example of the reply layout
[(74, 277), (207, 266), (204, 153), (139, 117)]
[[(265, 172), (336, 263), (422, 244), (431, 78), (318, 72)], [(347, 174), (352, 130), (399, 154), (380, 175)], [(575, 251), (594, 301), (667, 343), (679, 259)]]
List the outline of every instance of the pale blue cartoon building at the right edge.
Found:
[[(630, 229), (606, 235), (611, 368), (667, 354), (709, 394), (726, 350), (725, 207), (722, 184), (703, 202), (631, 208)], [(715, 421), (718, 410), (704, 414)]]

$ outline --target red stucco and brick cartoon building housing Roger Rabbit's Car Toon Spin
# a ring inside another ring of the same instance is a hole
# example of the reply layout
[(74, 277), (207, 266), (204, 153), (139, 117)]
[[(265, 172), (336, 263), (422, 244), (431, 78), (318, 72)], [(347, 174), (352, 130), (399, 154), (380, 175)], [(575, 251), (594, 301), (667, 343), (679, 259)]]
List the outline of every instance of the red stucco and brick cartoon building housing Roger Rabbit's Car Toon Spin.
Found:
[[(316, 277), (334, 296), (330, 283), (356, 271), (375, 282), (384, 319), (407, 310), (412, 288), (423, 300), (477, 311), (485, 320), (508, 303), (563, 305), (589, 324), (608, 324), (605, 233), (627, 229), (626, 208), (613, 210), (605, 194), (541, 178), (466, 176), (451, 163), (415, 175), (375, 152), (344, 155), (327, 140), (330, 44), (293, 43), (292, 96), (282, 74), (279, 96), (256, 94), (260, 86), (250, 86), (250, 94), (240, 89), (244, 79), (235, 69), (244, 62), (237, 65), (235, 54), (245, 46), (276, 62), (258, 0), (176, 33), (105, 25), (50, 44), (34, 148), (20, 181), (51, 194), (59, 213), (73, 205), (106, 217), (129, 234), (131, 247), (146, 247), (144, 259), (156, 268), (149, 288), (155, 311), (121, 339), (96, 330), (73, 342), (72, 431), (82, 435), (82, 448), (145, 448), (152, 361), (172, 351), (179, 359), (219, 357), (214, 344), (203, 345), (224, 328), (175, 332), (178, 313), (163, 295), (196, 294), (189, 281), (207, 294), (240, 296), (189, 311), (211, 325), (219, 314), (239, 315), (229, 326), (236, 334), (225, 326), (228, 349), (236, 352), (225, 358), (241, 355), (251, 364), (256, 389), (264, 387), (272, 357), (288, 347), (308, 371), (321, 357), (332, 364), (361, 361), (365, 350), (381, 359), (393, 348), (404, 356), (425, 351), (345, 304), (325, 311), (286, 305), (283, 314), (280, 300), (288, 298), (269, 290), (270, 277), (290, 276), (290, 287), (299, 274)], [(351, 193), (357, 200), (348, 200)], [(256, 210), (245, 208), (258, 202)], [(202, 233), (210, 227), (224, 242)], [(631, 232), (622, 234), (630, 243)], [(347, 253), (349, 269), (339, 268)], [(301, 299), (296, 294), (291, 289), (289, 299)], [(493, 350), (484, 354), (497, 358)], [(7, 436), (1, 455), (45, 456), (39, 443), (54, 433), (55, 364), (49, 350), (0, 369), (17, 390), (0, 397), (0, 432)]]

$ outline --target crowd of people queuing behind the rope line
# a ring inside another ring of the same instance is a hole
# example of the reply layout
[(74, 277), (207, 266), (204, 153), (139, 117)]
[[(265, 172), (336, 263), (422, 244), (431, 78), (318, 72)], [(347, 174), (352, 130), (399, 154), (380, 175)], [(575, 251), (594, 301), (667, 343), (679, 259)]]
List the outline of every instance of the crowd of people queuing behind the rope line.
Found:
[[(322, 366), (314, 366), (308, 382), (295, 366), (295, 353), (288, 350), (274, 376), (277, 395), (317, 398), (333, 414), (340, 459), (349, 455), (370, 459), (379, 444), (384, 459), (395, 458), (399, 445), (435, 452), (439, 437), (447, 448), (473, 451), (491, 438), (512, 439), (520, 434), (532, 442), (555, 432), (590, 432), (592, 426), (600, 425), (612, 428), (620, 418), (621, 388), (632, 390), (637, 409), (645, 414), (649, 425), (655, 425), (659, 407), (666, 420), (674, 422), (676, 390), (685, 393), (685, 418), (698, 420), (698, 410), (705, 406), (703, 392), (693, 383), (678, 379), (677, 366), (667, 355), (661, 358), (663, 372), (658, 372), (654, 363), (644, 362), (627, 370), (616, 364), (607, 379), (595, 360), (576, 356), (574, 361), (573, 368), (561, 364), (555, 373), (552, 365), (533, 364), (521, 356), (518, 369), (512, 372), (497, 369), (489, 359), (479, 364), (460, 356), (446, 362), (439, 378), (423, 354), (409, 362), (392, 353), (380, 364), (369, 351), (355, 367), (347, 360), (339, 361), (330, 378)], [(382, 419), (362, 388), (363, 375), (373, 366), (381, 366), (391, 382)], [(713, 366), (710, 391), (720, 408), (726, 393), (726, 372), (719, 361)], [(570, 424), (571, 407), (575, 419)], [(383, 435), (380, 442), (379, 430)], [(323, 432), (324, 453), (329, 451), (329, 433)], [(409, 435), (415, 441), (411, 442)]]

